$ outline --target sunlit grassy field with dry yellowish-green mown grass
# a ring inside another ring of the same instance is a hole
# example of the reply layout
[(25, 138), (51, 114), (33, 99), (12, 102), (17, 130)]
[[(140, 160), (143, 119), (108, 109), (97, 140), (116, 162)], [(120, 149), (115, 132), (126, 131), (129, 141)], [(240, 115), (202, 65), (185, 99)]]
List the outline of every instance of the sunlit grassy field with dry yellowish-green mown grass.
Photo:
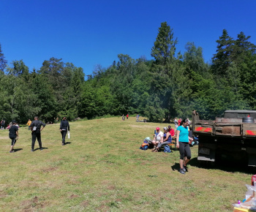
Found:
[(189, 172), (181, 175), (178, 151), (139, 149), (165, 125), (133, 117), (72, 122), (64, 146), (59, 124), (48, 125), (43, 151), (34, 152), (26, 127), (12, 154), (8, 131), (0, 130), (1, 211), (232, 211), (253, 173), (200, 167), (195, 146)]

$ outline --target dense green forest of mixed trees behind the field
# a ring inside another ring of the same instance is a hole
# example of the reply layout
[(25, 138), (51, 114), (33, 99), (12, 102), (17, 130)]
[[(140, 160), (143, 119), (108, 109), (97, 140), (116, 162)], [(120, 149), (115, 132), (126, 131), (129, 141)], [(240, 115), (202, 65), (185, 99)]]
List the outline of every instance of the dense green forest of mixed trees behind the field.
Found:
[[(178, 39), (161, 23), (148, 61), (119, 54), (108, 68), (92, 75), (60, 58), (50, 58), (38, 70), (22, 60), (7, 63), (0, 45), (0, 118), (26, 123), (38, 115), (95, 118), (139, 113), (150, 121), (189, 117), (214, 118), (224, 110), (256, 110), (256, 46), (243, 32), (236, 39), (227, 30), (217, 39), (211, 64), (193, 42), (182, 55)], [(213, 41), (214, 42), (214, 41)], [(86, 79), (86, 80), (85, 80)]]

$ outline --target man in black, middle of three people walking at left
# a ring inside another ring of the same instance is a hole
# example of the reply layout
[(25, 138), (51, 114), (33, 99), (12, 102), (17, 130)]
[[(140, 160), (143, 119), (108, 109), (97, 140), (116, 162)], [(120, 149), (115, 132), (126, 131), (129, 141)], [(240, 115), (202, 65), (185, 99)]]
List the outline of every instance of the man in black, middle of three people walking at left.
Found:
[(38, 141), (39, 144), (39, 148), (40, 150), (42, 150), (42, 142), (41, 142), (41, 126), (42, 129), (45, 128), (45, 123), (42, 123), (42, 121), (38, 120), (38, 116), (34, 117), (34, 121), (32, 121), (31, 125), (30, 125), (30, 129), (31, 129), (31, 135), (32, 135), (32, 145), (31, 145), (31, 151), (34, 151), (34, 143), (36, 142), (36, 139)]

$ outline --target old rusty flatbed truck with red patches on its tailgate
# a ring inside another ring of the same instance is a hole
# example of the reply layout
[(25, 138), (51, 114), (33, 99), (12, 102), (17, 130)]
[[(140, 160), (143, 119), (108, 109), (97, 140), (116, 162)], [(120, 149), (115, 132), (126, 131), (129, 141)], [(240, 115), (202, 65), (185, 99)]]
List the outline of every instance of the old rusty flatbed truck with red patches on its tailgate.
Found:
[(214, 121), (192, 112), (192, 132), (198, 135), (199, 162), (239, 162), (256, 167), (256, 110), (226, 110)]

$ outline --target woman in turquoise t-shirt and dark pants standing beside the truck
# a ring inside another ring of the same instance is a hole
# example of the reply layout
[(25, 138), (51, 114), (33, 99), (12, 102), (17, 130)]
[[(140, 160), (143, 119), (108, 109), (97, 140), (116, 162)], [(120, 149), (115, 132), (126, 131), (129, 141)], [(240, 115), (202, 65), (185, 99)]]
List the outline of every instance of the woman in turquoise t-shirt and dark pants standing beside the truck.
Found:
[[(188, 129), (189, 121), (187, 118), (185, 118), (183, 121), (181, 121), (181, 126), (178, 126), (177, 128), (177, 138), (176, 138), (176, 147), (179, 148), (180, 153), (180, 170), (179, 172), (181, 174), (185, 174), (187, 171), (187, 163), (191, 159), (191, 151), (189, 148), (189, 129)], [(187, 154), (185, 157), (185, 152)]]

